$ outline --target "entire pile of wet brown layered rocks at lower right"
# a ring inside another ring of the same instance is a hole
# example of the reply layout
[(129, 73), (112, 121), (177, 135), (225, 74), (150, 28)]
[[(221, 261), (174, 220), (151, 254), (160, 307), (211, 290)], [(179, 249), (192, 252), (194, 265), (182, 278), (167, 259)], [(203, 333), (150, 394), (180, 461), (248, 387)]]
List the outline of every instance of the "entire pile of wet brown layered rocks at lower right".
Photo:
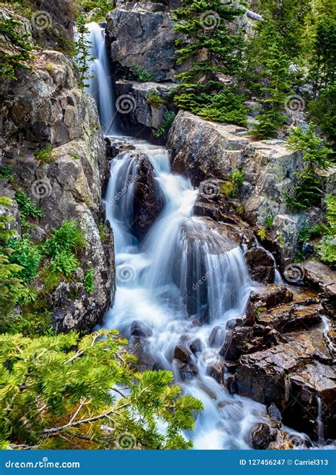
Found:
[[(281, 295), (288, 303), (278, 305)], [(228, 332), (220, 349), (220, 355), (234, 363), (228, 390), (276, 405), (284, 424), (314, 439), (334, 439), (332, 328), (322, 320), (318, 297), (312, 292), (293, 295), (284, 286), (274, 285), (269, 291), (252, 293), (251, 302), (257, 304), (251, 310), (254, 324), (245, 321), (249, 326)], [(264, 430), (257, 427), (252, 435), (256, 446), (262, 439), (269, 444)]]

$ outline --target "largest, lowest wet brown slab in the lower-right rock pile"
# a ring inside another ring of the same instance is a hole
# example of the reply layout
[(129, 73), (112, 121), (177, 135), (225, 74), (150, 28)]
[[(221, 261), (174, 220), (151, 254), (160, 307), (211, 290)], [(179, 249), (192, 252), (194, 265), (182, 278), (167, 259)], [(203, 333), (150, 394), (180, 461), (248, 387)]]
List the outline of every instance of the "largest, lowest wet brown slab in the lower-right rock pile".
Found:
[(286, 339), (286, 343), (240, 356), (230, 388), (259, 403), (276, 404), (284, 424), (313, 437), (318, 433), (320, 395), (325, 407), (325, 437), (331, 437), (335, 371), (327, 366), (332, 364), (332, 355), (323, 330), (317, 327), (309, 332), (293, 332)]

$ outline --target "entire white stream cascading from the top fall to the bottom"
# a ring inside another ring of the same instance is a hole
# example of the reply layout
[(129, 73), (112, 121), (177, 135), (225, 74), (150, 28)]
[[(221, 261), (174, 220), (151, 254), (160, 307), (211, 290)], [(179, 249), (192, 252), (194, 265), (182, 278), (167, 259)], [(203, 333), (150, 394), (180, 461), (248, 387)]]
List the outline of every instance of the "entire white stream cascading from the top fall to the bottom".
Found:
[[(91, 55), (96, 58), (89, 92), (98, 104), (105, 135), (116, 136), (103, 31), (95, 23), (89, 24), (89, 31)], [(220, 365), (218, 351), (227, 322), (243, 315), (247, 305), (251, 284), (243, 251), (206, 220), (193, 216), (197, 190), (186, 178), (171, 172), (165, 148), (135, 138), (114, 140), (128, 142), (134, 149), (112, 160), (106, 190), (117, 283), (115, 302), (104, 326), (119, 329), (137, 348), (140, 341), (142, 366), (172, 371), (182, 391), (203, 402), (195, 430), (186, 434), (196, 449), (250, 448), (252, 428), (266, 420), (264, 405), (230, 395), (209, 374)], [(138, 153), (150, 160), (164, 203), (141, 242), (132, 234), (135, 182), (140, 174)], [(276, 275), (276, 280), (280, 279)], [(142, 332), (141, 339), (133, 336), (134, 327)], [(194, 349), (188, 364), (174, 358), (177, 344)], [(323, 437), (321, 410), (318, 422)], [(298, 439), (307, 437), (298, 435)]]

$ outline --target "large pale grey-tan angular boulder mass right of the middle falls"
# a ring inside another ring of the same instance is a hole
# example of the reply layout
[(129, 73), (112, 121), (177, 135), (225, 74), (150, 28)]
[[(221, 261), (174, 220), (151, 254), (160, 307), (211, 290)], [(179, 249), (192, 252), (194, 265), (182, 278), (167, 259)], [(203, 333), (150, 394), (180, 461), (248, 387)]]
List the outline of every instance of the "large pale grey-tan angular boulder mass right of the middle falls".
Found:
[(273, 218), (274, 226), (268, 231), (272, 242), (267, 238), (263, 244), (269, 243), (271, 251), (277, 249), (281, 266), (293, 261), (299, 229), (305, 223), (315, 225), (322, 214), (318, 209), (299, 214), (286, 209), (286, 192), (302, 162), (284, 141), (253, 141), (243, 127), (179, 111), (167, 146), (173, 170), (188, 176), (196, 186), (204, 180), (224, 182), (233, 171), (242, 170), (245, 182), (237, 202), (243, 207), (242, 217), (256, 230)]

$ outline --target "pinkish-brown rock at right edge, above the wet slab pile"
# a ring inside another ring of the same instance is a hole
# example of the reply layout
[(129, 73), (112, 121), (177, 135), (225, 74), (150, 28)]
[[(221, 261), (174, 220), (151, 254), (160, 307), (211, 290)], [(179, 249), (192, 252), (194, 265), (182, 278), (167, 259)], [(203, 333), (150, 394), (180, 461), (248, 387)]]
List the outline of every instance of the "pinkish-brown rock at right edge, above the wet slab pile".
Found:
[(318, 261), (305, 261), (300, 264), (305, 273), (306, 283), (320, 288), (328, 297), (336, 297), (336, 272)]

